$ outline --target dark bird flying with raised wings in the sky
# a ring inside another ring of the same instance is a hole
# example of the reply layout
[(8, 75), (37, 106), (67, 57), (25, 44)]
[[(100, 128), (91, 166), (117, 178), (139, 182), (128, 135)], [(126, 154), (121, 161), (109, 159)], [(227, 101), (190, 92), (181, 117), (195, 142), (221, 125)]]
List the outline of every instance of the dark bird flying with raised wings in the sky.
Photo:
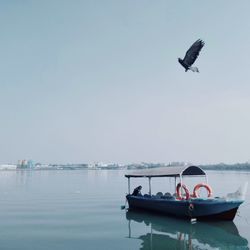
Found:
[(197, 59), (204, 44), (205, 43), (201, 39), (198, 39), (186, 52), (186, 55), (183, 60), (181, 58), (178, 58), (179, 63), (185, 68), (185, 72), (187, 72), (189, 69), (193, 72), (199, 72), (197, 67), (191, 66)]

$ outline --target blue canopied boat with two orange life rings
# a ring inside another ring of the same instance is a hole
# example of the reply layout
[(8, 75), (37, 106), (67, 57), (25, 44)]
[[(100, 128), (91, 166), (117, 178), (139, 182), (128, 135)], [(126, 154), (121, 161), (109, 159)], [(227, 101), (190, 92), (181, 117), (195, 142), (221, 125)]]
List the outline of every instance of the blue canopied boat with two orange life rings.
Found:
[[(142, 169), (128, 173), (125, 177), (128, 179), (126, 200), (130, 210), (147, 210), (190, 220), (232, 221), (239, 206), (244, 202), (247, 189), (247, 183), (245, 183), (244, 187), (240, 187), (235, 193), (229, 193), (225, 197), (214, 196), (205, 171), (193, 165)], [(158, 192), (153, 195), (151, 193), (151, 179), (156, 177), (174, 178), (175, 193), (163, 194)], [(185, 179), (186, 177), (202, 177), (205, 178), (205, 181), (195, 185), (193, 192), (190, 193), (183, 182), (184, 177)], [(137, 187), (137, 192), (131, 194), (131, 178), (148, 178), (149, 193), (142, 195), (140, 194), (140, 188)], [(201, 188), (207, 190), (208, 197), (200, 197), (199, 191)]]

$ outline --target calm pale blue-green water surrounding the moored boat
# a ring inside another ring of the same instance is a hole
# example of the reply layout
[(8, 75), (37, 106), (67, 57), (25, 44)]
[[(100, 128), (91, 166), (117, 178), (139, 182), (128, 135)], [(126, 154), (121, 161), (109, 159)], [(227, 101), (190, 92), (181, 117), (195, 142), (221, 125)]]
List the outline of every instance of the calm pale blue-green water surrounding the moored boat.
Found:
[[(0, 249), (248, 249), (250, 187), (234, 222), (188, 221), (121, 210), (124, 171), (0, 172)], [(250, 173), (208, 172), (215, 195), (235, 191)], [(197, 180), (197, 182), (200, 182)], [(146, 181), (141, 184), (147, 192)], [(169, 179), (153, 192), (171, 190)]]

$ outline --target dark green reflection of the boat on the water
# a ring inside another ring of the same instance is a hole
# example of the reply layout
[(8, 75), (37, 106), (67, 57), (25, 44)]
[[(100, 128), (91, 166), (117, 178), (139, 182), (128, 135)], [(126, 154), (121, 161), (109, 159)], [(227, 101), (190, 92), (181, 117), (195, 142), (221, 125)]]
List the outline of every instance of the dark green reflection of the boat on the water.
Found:
[[(129, 238), (142, 240), (141, 250), (166, 249), (249, 249), (232, 221), (197, 222), (127, 211)], [(148, 232), (133, 235), (135, 222), (144, 223)]]

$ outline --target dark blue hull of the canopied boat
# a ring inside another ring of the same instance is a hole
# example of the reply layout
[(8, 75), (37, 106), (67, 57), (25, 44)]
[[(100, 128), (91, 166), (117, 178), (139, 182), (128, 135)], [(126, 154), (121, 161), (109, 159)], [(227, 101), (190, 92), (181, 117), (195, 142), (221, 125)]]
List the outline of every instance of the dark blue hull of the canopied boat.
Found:
[(175, 217), (197, 220), (233, 220), (243, 201), (224, 199), (163, 199), (153, 196), (127, 195), (129, 209), (142, 209)]

